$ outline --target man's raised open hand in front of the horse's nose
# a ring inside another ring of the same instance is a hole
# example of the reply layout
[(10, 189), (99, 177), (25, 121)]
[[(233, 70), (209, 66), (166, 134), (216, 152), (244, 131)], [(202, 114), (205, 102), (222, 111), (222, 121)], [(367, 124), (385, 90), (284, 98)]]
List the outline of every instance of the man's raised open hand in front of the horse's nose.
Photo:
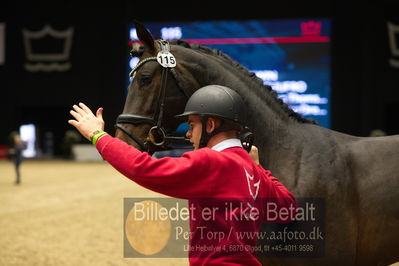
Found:
[(98, 108), (96, 115), (83, 103), (73, 106), (70, 111), (75, 120), (68, 121), (69, 124), (76, 127), (83, 137), (90, 140), (93, 132), (97, 130), (104, 130), (103, 108)]

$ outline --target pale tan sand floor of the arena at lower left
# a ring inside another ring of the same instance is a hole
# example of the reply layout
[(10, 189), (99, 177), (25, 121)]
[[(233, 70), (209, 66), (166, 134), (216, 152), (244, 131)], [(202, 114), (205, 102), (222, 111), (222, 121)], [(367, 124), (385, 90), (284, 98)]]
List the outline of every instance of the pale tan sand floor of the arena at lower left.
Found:
[(105, 162), (0, 160), (0, 265), (188, 265), (123, 258), (123, 199), (162, 197)]

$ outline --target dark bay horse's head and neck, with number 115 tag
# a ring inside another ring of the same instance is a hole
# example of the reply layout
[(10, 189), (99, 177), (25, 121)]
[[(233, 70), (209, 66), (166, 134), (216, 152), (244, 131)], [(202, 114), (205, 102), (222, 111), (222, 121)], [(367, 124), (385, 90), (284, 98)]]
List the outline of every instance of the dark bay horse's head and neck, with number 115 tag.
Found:
[[(288, 108), (263, 80), (221, 51), (182, 40), (155, 40), (143, 25), (135, 24), (140, 43), (133, 43), (131, 55), (140, 61), (131, 72), (133, 79), (123, 114), (117, 119), (116, 137), (149, 153), (182, 141), (171, 135), (180, 124), (175, 115), (183, 111), (194, 91), (212, 84), (229, 87), (243, 97), (248, 106), (246, 126), (262, 141), (255, 143), (258, 146), (266, 142), (270, 146), (275, 129), (286, 127), (290, 118), (308, 122)], [(161, 59), (173, 64), (164, 64)], [(281, 138), (281, 134), (276, 135)]]

